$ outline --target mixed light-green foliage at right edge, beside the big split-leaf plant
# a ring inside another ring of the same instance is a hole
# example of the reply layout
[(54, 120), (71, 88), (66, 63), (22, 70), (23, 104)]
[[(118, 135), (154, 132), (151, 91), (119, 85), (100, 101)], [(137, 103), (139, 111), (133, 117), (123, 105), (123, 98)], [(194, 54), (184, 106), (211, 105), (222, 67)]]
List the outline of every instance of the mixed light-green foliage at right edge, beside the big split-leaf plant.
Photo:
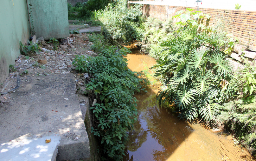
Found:
[[(231, 80), (226, 83), (226, 95), (228, 103), (219, 105), (220, 115), (218, 121), (240, 143), (249, 146), (255, 155), (256, 151), (256, 68), (251, 63), (245, 62), (244, 68), (238, 69)], [(254, 151), (254, 152), (253, 152)]]

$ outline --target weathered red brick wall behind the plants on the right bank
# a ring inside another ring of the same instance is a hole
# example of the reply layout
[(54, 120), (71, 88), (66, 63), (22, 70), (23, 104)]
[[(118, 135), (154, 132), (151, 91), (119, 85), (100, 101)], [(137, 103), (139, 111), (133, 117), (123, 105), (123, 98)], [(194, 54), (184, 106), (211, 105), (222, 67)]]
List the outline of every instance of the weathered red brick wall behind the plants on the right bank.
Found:
[[(143, 15), (167, 20), (172, 18), (177, 11), (192, 8), (197, 11), (197, 7), (181, 7), (181, 6), (162, 6), (162, 5), (146, 5), (143, 4)], [(234, 37), (237, 37), (239, 42), (248, 45), (250, 50), (256, 51), (256, 12), (255, 11), (242, 11), (242, 10), (225, 10), (213, 8), (198, 8), (205, 14), (210, 14), (210, 20), (206, 18), (203, 23), (206, 25), (217, 25), (218, 22), (223, 21), (225, 28)], [(178, 22), (179, 19), (174, 19)]]

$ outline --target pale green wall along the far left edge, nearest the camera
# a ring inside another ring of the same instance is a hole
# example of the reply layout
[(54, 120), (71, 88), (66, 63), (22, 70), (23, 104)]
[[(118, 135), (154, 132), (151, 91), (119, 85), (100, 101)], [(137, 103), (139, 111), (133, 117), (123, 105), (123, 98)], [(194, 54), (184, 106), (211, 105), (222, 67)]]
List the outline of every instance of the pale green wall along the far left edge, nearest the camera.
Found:
[[(13, 6), (14, 4), (14, 6)], [(0, 83), (4, 82), (9, 65), (20, 55), (19, 41), (29, 38), (26, 0), (4, 0), (0, 5)]]

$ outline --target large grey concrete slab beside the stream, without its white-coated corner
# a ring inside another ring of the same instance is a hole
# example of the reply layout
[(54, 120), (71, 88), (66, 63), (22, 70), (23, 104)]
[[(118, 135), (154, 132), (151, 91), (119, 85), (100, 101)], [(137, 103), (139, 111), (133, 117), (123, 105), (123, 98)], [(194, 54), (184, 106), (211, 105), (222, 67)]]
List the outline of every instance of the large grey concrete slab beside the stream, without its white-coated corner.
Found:
[[(31, 137), (31, 142), (58, 135), (57, 160), (90, 157), (89, 139), (72, 73), (21, 81), (21, 87), (6, 96), (7, 103), (0, 108), (0, 145), (24, 135)], [(32, 148), (32, 145), (28, 144), (28, 147)], [(53, 154), (49, 150), (49, 154)], [(11, 156), (10, 152), (4, 153)], [(4, 153), (1, 151), (0, 157)], [(39, 158), (45, 160), (42, 155)]]

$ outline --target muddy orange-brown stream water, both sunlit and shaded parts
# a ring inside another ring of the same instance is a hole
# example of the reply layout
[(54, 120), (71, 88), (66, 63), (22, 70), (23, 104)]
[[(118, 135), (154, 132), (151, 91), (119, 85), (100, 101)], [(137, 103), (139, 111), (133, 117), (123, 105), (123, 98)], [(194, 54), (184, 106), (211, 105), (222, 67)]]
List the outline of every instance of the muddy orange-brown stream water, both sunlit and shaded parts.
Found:
[[(147, 70), (156, 61), (128, 46), (132, 53), (126, 57), (132, 71)], [(153, 71), (149, 71), (153, 73)], [(160, 84), (154, 83), (147, 93), (136, 94), (137, 122), (129, 132), (129, 141), (123, 161), (249, 161), (253, 160), (243, 148), (210, 132), (198, 123), (187, 123), (175, 113), (156, 102)]]

